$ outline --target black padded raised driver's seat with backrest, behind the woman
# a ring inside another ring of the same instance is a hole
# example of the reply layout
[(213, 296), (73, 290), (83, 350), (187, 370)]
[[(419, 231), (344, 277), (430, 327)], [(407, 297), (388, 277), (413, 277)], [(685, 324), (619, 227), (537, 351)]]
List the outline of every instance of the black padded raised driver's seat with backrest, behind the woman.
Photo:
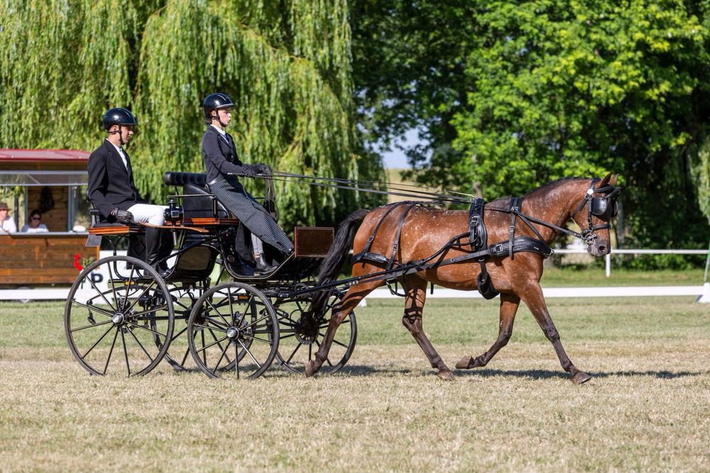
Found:
[(222, 202), (206, 189), (207, 175), (199, 172), (168, 171), (163, 175), (168, 186), (182, 186), (182, 211), (185, 218), (229, 218)]

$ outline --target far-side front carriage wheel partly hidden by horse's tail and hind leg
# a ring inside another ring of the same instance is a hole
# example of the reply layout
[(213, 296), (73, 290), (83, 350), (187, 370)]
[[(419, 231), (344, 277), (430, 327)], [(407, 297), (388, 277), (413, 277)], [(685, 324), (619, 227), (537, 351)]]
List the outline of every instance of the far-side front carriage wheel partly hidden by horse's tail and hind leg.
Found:
[[(328, 299), (325, 311), (315, 316), (308, 310), (309, 301), (292, 301), (275, 304), (278, 315), (280, 340), (276, 357), (278, 363), (293, 373), (305, 372), (305, 365), (320, 348), (330, 323), (332, 308), (342, 298), (336, 294)], [(350, 359), (357, 340), (355, 313), (349, 313), (338, 327), (335, 338), (320, 373), (334, 373)]]

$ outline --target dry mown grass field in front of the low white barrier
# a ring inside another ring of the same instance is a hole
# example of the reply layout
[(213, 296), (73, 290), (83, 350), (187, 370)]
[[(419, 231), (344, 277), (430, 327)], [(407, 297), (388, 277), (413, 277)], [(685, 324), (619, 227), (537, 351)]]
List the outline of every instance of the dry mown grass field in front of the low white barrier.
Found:
[[(251, 382), (92, 377), (62, 304), (0, 304), (2, 471), (710, 469), (710, 307), (692, 298), (552, 299), (575, 386), (521, 308), (491, 363), (442, 382), (399, 300), (359, 308), (340, 374)], [(425, 329), (453, 367), (497, 333), (495, 301), (436, 300)]]

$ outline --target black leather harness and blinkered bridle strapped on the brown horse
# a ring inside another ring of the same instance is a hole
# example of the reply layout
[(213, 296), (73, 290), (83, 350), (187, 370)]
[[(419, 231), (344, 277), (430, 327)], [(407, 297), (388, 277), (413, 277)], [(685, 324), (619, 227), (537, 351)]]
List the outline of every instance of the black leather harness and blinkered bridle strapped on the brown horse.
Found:
[[(407, 264), (395, 262), (397, 250), (400, 246), (402, 228), (412, 208), (414, 208), (415, 206), (423, 205), (421, 203), (412, 201), (398, 202), (396, 204), (392, 204), (390, 208), (388, 208), (384, 215), (380, 218), (380, 221), (373, 229), (373, 232), (369, 236), (363, 250), (357, 253), (356, 255), (353, 255), (352, 264), (367, 261), (374, 262), (380, 265), (385, 265), (386, 269), (384, 271), (378, 272), (376, 274), (371, 274), (370, 276), (380, 276), (381, 279), (387, 279), (389, 284), (389, 282), (396, 280), (396, 278), (404, 276), (406, 274), (413, 274), (415, 272), (425, 271), (427, 269), (432, 269), (435, 267), (454, 265), (459, 262), (474, 260), (478, 262), (481, 266), (481, 272), (477, 277), (478, 290), (481, 295), (484, 296), (484, 298), (493, 299), (493, 297), (497, 296), (499, 293), (493, 287), (491, 278), (488, 274), (488, 271), (486, 270), (486, 261), (488, 261), (488, 259), (490, 259), (491, 257), (508, 256), (512, 260), (515, 257), (515, 253), (518, 252), (532, 252), (542, 256), (543, 258), (547, 258), (553, 253), (552, 248), (550, 248), (550, 246), (545, 243), (545, 239), (542, 238), (542, 234), (540, 234), (540, 231), (537, 230), (537, 228), (535, 228), (535, 226), (533, 226), (531, 222), (535, 222), (542, 226), (546, 226), (548, 228), (552, 228), (563, 233), (573, 235), (577, 238), (581, 238), (581, 240), (586, 242), (588, 245), (591, 245), (597, 238), (596, 233), (594, 233), (595, 230), (610, 228), (610, 224), (608, 223), (608, 221), (611, 220), (612, 216), (616, 216), (616, 213), (618, 213), (618, 204), (616, 203), (616, 199), (618, 197), (618, 193), (621, 191), (621, 188), (605, 186), (600, 187), (599, 189), (594, 189), (594, 185), (598, 181), (599, 179), (592, 179), (589, 189), (587, 189), (586, 193), (584, 194), (584, 199), (581, 200), (579, 206), (577, 207), (577, 210), (574, 211), (574, 213), (572, 214), (572, 216), (574, 217), (575, 215), (577, 215), (577, 213), (579, 213), (579, 211), (581, 211), (582, 208), (584, 208), (585, 205), (587, 206), (587, 222), (589, 227), (586, 228), (586, 230), (582, 230), (581, 233), (577, 233), (573, 230), (562, 228), (552, 223), (540, 221), (537, 218), (525, 215), (521, 212), (521, 208), (523, 207), (523, 197), (511, 197), (508, 208), (488, 207), (488, 210), (491, 211), (510, 213), (508, 240), (503, 241), (501, 243), (493, 243), (492, 245), (488, 245), (488, 231), (486, 230), (486, 224), (484, 222), (484, 208), (486, 207), (486, 201), (484, 201), (484, 199), (479, 198), (474, 199), (474, 201), (471, 202), (471, 206), (469, 208), (468, 232), (461, 233), (460, 235), (455, 236), (454, 238), (449, 240), (446, 245), (444, 245), (430, 257), (427, 257), (424, 260), (420, 261), (408, 262)], [(605, 193), (606, 195), (602, 197), (594, 197), (594, 194), (600, 193)], [(402, 206), (406, 207), (399, 218), (398, 228), (395, 234), (395, 240), (392, 245), (392, 252), (389, 257), (371, 252), (370, 248), (372, 246), (372, 243), (375, 240), (377, 233), (386, 218), (393, 211), (395, 211), (396, 208), (400, 208)], [(593, 215), (601, 218), (602, 220), (606, 220), (606, 223), (599, 226), (594, 226), (591, 221), (591, 217)], [(520, 218), (520, 220), (523, 221), (523, 223), (525, 223), (525, 225), (528, 226), (533, 233), (535, 233), (536, 238), (531, 238), (527, 236), (515, 236), (515, 227), (518, 218)], [(468, 250), (466, 249), (467, 247), (469, 248)], [(447, 250), (451, 248), (465, 251), (467, 254), (461, 255), (459, 257), (444, 258), (444, 255), (446, 254)], [(360, 278), (355, 278), (354, 282), (359, 279)], [(391, 286), (390, 290), (393, 291), (393, 294), (398, 294), (396, 289), (392, 289)]]

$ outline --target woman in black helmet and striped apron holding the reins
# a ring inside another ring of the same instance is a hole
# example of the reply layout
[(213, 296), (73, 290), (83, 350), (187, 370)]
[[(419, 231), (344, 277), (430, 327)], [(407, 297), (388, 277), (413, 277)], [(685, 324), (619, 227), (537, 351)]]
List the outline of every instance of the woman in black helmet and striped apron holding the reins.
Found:
[(253, 177), (270, 169), (263, 164), (244, 164), (239, 160), (234, 139), (224, 128), (231, 122), (231, 99), (225, 94), (209, 94), (202, 102), (207, 130), (202, 135), (202, 157), (210, 191), (251, 232), (256, 271), (273, 272), (275, 265), (266, 260), (263, 242), (288, 256), (293, 243), (263, 206), (244, 189), (234, 174)]

